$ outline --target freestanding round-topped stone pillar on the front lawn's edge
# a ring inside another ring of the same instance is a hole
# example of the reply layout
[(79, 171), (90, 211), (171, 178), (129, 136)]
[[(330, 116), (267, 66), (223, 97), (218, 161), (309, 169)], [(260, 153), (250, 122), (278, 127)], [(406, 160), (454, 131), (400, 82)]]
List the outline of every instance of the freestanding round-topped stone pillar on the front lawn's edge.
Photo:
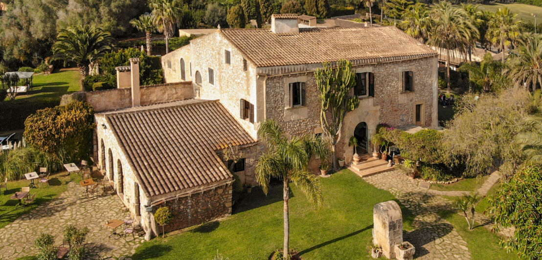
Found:
[(382, 247), (385, 257), (395, 258), (393, 246), (403, 242), (403, 214), (393, 201), (378, 203), (373, 208), (373, 244)]

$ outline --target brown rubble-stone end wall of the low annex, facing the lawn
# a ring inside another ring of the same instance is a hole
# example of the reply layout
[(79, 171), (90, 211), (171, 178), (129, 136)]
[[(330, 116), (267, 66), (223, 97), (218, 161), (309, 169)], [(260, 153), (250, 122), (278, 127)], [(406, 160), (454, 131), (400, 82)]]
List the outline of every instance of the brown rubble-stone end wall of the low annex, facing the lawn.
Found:
[[(190, 196), (167, 200), (153, 207), (153, 214), (159, 207), (167, 206), (173, 213), (171, 224), (165, 226), (165, 231), (184, 229), (185, 227), (202, 224), (231, 214), (232, 185), (224, 184), (210, 190), (193, 193)], [(154, 223), (158, 228), (159, 226)], [(162, 232), (162, 227), (159, 227)]]

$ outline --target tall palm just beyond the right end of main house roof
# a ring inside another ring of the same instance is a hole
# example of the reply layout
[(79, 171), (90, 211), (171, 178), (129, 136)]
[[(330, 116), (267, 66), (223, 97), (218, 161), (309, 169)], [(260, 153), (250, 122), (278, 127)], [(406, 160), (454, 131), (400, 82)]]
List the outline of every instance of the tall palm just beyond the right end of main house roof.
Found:
[(432, 15), (434, 26), (430, 30), (429, 43), (446, 50), (446, 81), (450, 92), (450, 51), (467, 53), (472, 39), (478, 37), (478, 29), (469, 21), (463, 9), (449, 2), (435, 4)]

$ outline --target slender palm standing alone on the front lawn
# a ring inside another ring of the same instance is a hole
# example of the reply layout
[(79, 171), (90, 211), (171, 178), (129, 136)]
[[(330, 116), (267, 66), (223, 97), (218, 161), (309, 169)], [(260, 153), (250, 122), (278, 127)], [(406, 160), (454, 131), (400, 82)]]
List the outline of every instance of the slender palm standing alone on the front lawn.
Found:
[(289, 245), (289, 183), (293, 182), (312, 204), (321, 206), (322, 192), (320, 181), (307, 170), (312, 155), (326, 158), (328, 148), (320, 138), (312, 135), (287, 138), (279, 124), (266, 120), (258, 128), (258, 136), (267, 145), (267, 152), (260, 156), (256, 165), (256, 181), (267, 194), (271, 178), (282, 180), (284, 200), (284, 255), (288, 255)]

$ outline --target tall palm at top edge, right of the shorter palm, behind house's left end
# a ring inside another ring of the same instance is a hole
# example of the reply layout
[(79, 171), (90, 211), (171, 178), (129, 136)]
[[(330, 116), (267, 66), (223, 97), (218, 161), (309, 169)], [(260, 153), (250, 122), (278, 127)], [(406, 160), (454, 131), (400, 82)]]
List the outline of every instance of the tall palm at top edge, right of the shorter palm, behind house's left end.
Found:
[(151, 0), (153, 24), (166, 37), (166, 54), (169, 53), (169, 38), (175, 34), (175, 25), (184, 14), (183, 2), (179, 0)]

